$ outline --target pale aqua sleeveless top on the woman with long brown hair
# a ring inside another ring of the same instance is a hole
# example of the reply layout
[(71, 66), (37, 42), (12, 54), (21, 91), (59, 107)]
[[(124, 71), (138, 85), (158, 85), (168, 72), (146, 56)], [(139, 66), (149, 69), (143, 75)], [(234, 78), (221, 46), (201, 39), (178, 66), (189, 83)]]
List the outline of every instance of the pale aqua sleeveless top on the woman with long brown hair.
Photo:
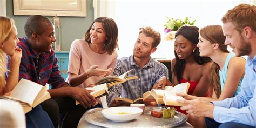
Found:
[[(220, 76), (220, 87), (221, 87), (221, 91), (223, 91), (224, 89), (224, 85), (227, 79), (227, 68), (228, 68), (228, 64), (230, 63), (230, 59), (235, 57), (235, 54), (233, 52), (228, 53), (225, 64), (223, 66), (222, 70), (219, 70), (219, 76)], [(233, 95), (236, 96), (238, 95), (238, 93), (241, 91), (241, 83), (242, 83), (242, 79), (240, 79), (238, 86), (237, 86), (237, 90), (235, 90), (235, 93)]]

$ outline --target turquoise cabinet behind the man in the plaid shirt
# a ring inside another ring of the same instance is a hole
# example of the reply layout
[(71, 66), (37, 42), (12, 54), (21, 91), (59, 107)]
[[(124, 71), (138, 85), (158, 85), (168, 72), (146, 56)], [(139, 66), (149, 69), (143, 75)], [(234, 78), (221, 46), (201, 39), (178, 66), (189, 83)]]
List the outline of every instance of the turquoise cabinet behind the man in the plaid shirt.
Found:
[(68, 51), (60, 51), (55, 52), (56, 57), (58, 58), (58, 66), (60, 73), (64, 80), (66, 80), (66, 77), (68, 77), (68, 65), (69, 65), (69, 52)]

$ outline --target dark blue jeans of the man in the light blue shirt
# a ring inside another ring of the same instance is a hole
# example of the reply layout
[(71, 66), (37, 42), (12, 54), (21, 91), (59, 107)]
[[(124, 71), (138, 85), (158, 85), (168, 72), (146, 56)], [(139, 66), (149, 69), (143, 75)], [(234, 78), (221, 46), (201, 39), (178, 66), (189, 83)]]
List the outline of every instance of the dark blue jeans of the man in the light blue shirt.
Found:
[(220, 128), (226, 128), (226, 127), (239, 127), (239, 128), (253, 128), (253, 126), (245, 125), (245, 124), (240, 124), (236, 122), (225, 122), (225, 123), (218, 123), (214, 119), (205, 118), (205, 124), (207, 128), (213, 128), (213, 127), (220, 127)]

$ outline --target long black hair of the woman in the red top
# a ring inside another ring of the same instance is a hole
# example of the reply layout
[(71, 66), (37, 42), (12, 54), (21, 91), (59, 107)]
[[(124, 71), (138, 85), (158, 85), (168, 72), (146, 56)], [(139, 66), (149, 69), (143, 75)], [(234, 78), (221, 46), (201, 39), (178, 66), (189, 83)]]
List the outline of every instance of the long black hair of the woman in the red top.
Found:
[[(181, 26), (178, 31), (175, 34), (175, 38), (179, 35), (185, 37), (188, 39), (188, 41), (192, 42), (193, 44), (197, 44), (199, 42), (199, 28), (197, 26)], [(173, 68), (173, 73), (177, 77), (178, 81), (180, 82), (181, 77), (183, 75), (183, 72), (185, 70), (185, 64), (186, 61), (184, 59), (179, 59), (177, 53), (174, 51), (175, 58), (176, 58), (176, 64)], [(197, 62), (197, 64), (204, 64), (205, 62), (211, 62), (211, 59), (209, 57), (200, 57), (199, 56), (199, 49), (196, 48), (196, 50), (193, 52), (194, 60)]]

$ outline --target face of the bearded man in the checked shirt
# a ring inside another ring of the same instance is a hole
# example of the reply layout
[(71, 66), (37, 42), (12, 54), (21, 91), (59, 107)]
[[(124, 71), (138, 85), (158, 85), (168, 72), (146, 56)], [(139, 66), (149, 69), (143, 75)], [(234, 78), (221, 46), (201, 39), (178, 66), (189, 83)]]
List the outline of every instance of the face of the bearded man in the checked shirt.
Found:
[(144, 33), (140, 33), (134, 44), (133, 56), (137, 58), (150, 57), (151, 53), (156, 51), (156, 48), (152, 48), (153, 41), (152, 37), (147, 37)]

